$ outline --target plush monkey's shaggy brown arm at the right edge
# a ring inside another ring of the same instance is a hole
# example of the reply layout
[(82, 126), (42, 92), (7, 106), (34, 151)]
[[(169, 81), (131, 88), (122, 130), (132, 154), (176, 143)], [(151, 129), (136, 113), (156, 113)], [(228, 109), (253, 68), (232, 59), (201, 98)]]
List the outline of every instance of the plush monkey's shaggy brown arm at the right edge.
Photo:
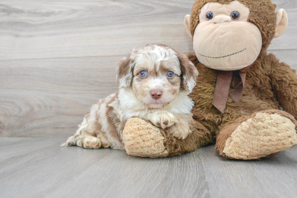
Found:
[(297, 118), (297, 75), (289, 65), (280, 63), (273, 54), (267, 56), (271, 64), (272, 88), (282, 108)]

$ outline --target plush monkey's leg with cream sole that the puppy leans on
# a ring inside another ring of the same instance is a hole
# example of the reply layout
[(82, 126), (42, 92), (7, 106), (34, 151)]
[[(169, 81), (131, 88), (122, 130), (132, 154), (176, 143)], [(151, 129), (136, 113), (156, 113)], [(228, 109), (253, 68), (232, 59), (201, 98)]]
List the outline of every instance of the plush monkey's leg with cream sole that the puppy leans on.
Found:
[(195, 121), (192, 133), (177, 139), (166, 129), (158, 128), (141, 118), (131, 118), (123, 131), (127, 154), (140, 157), (170, 157), (191, 152), (212, 142), (212, 134)]

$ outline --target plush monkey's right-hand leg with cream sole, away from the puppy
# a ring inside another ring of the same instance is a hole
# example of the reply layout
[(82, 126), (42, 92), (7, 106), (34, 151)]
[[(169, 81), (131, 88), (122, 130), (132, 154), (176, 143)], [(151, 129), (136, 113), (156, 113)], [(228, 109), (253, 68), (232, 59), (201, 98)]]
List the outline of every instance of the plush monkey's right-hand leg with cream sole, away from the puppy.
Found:
[(297, 121), (281, 110), (255, 112), (225, 125), (217, 134), (215, 148), (232, 159), (259, 159), (297, 144)]

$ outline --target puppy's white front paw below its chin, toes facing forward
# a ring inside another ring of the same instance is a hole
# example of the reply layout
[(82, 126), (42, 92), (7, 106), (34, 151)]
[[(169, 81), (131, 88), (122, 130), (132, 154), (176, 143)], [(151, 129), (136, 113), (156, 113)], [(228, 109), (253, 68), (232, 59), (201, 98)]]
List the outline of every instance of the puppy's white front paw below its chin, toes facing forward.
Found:
[(176, 118), (173, 114), (168, 112), (160, 112), (153, 116), (151, 122), (161, 128), (167, 128), (176, 123)]

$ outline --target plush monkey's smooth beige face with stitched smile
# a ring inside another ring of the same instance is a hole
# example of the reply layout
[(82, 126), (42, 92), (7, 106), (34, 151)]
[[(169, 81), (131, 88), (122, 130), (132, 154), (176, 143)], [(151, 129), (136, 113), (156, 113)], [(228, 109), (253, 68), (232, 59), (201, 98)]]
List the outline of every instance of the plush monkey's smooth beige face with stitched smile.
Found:
[(239, 1), (205, 4), (193, 36), (198, 60), (212, 69), (226, 71), (254, 63), (261, 51), (262, 36), (248, 22), (249, 14), (249, 8)]

